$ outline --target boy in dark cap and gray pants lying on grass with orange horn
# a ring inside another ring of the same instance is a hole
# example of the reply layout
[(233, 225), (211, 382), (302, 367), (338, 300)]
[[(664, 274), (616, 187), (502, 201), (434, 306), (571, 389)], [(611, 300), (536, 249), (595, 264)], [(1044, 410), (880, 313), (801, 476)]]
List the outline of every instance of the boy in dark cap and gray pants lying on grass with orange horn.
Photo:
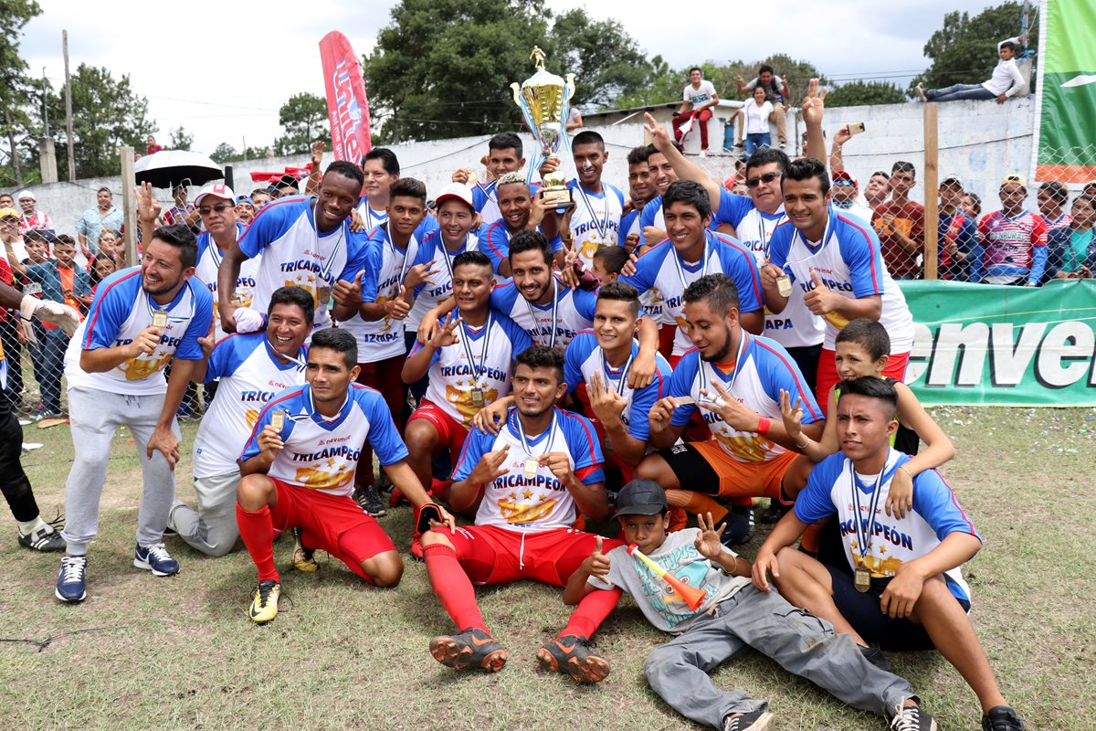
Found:
[(910, 684), (871, 664), (830, 623), (796, 609), (776, 592), (750, 583), (750, 562), (721, 542), (711, 515), (698, 528), (667, 533), (662, 488), (632, 480), (617, 496), (616, 517), (625, 538), (678, 581), (705, 594), (689, 606), (681, 592), (655, 574), (628, 547), (594, 552), (571, 574), (563, 601), (574, 604), (603, 590), (632, 595), (647, 619), (676, 637), (655, 648), (643, 670), (659, 696), (677, 712), (716, 729), (761, 731), (773, 715), (768, 703), (743, 690), (720, 690), (708, 672), (746, 646), (841, 700), (892, 719), (891, 728), (932, 730)]

